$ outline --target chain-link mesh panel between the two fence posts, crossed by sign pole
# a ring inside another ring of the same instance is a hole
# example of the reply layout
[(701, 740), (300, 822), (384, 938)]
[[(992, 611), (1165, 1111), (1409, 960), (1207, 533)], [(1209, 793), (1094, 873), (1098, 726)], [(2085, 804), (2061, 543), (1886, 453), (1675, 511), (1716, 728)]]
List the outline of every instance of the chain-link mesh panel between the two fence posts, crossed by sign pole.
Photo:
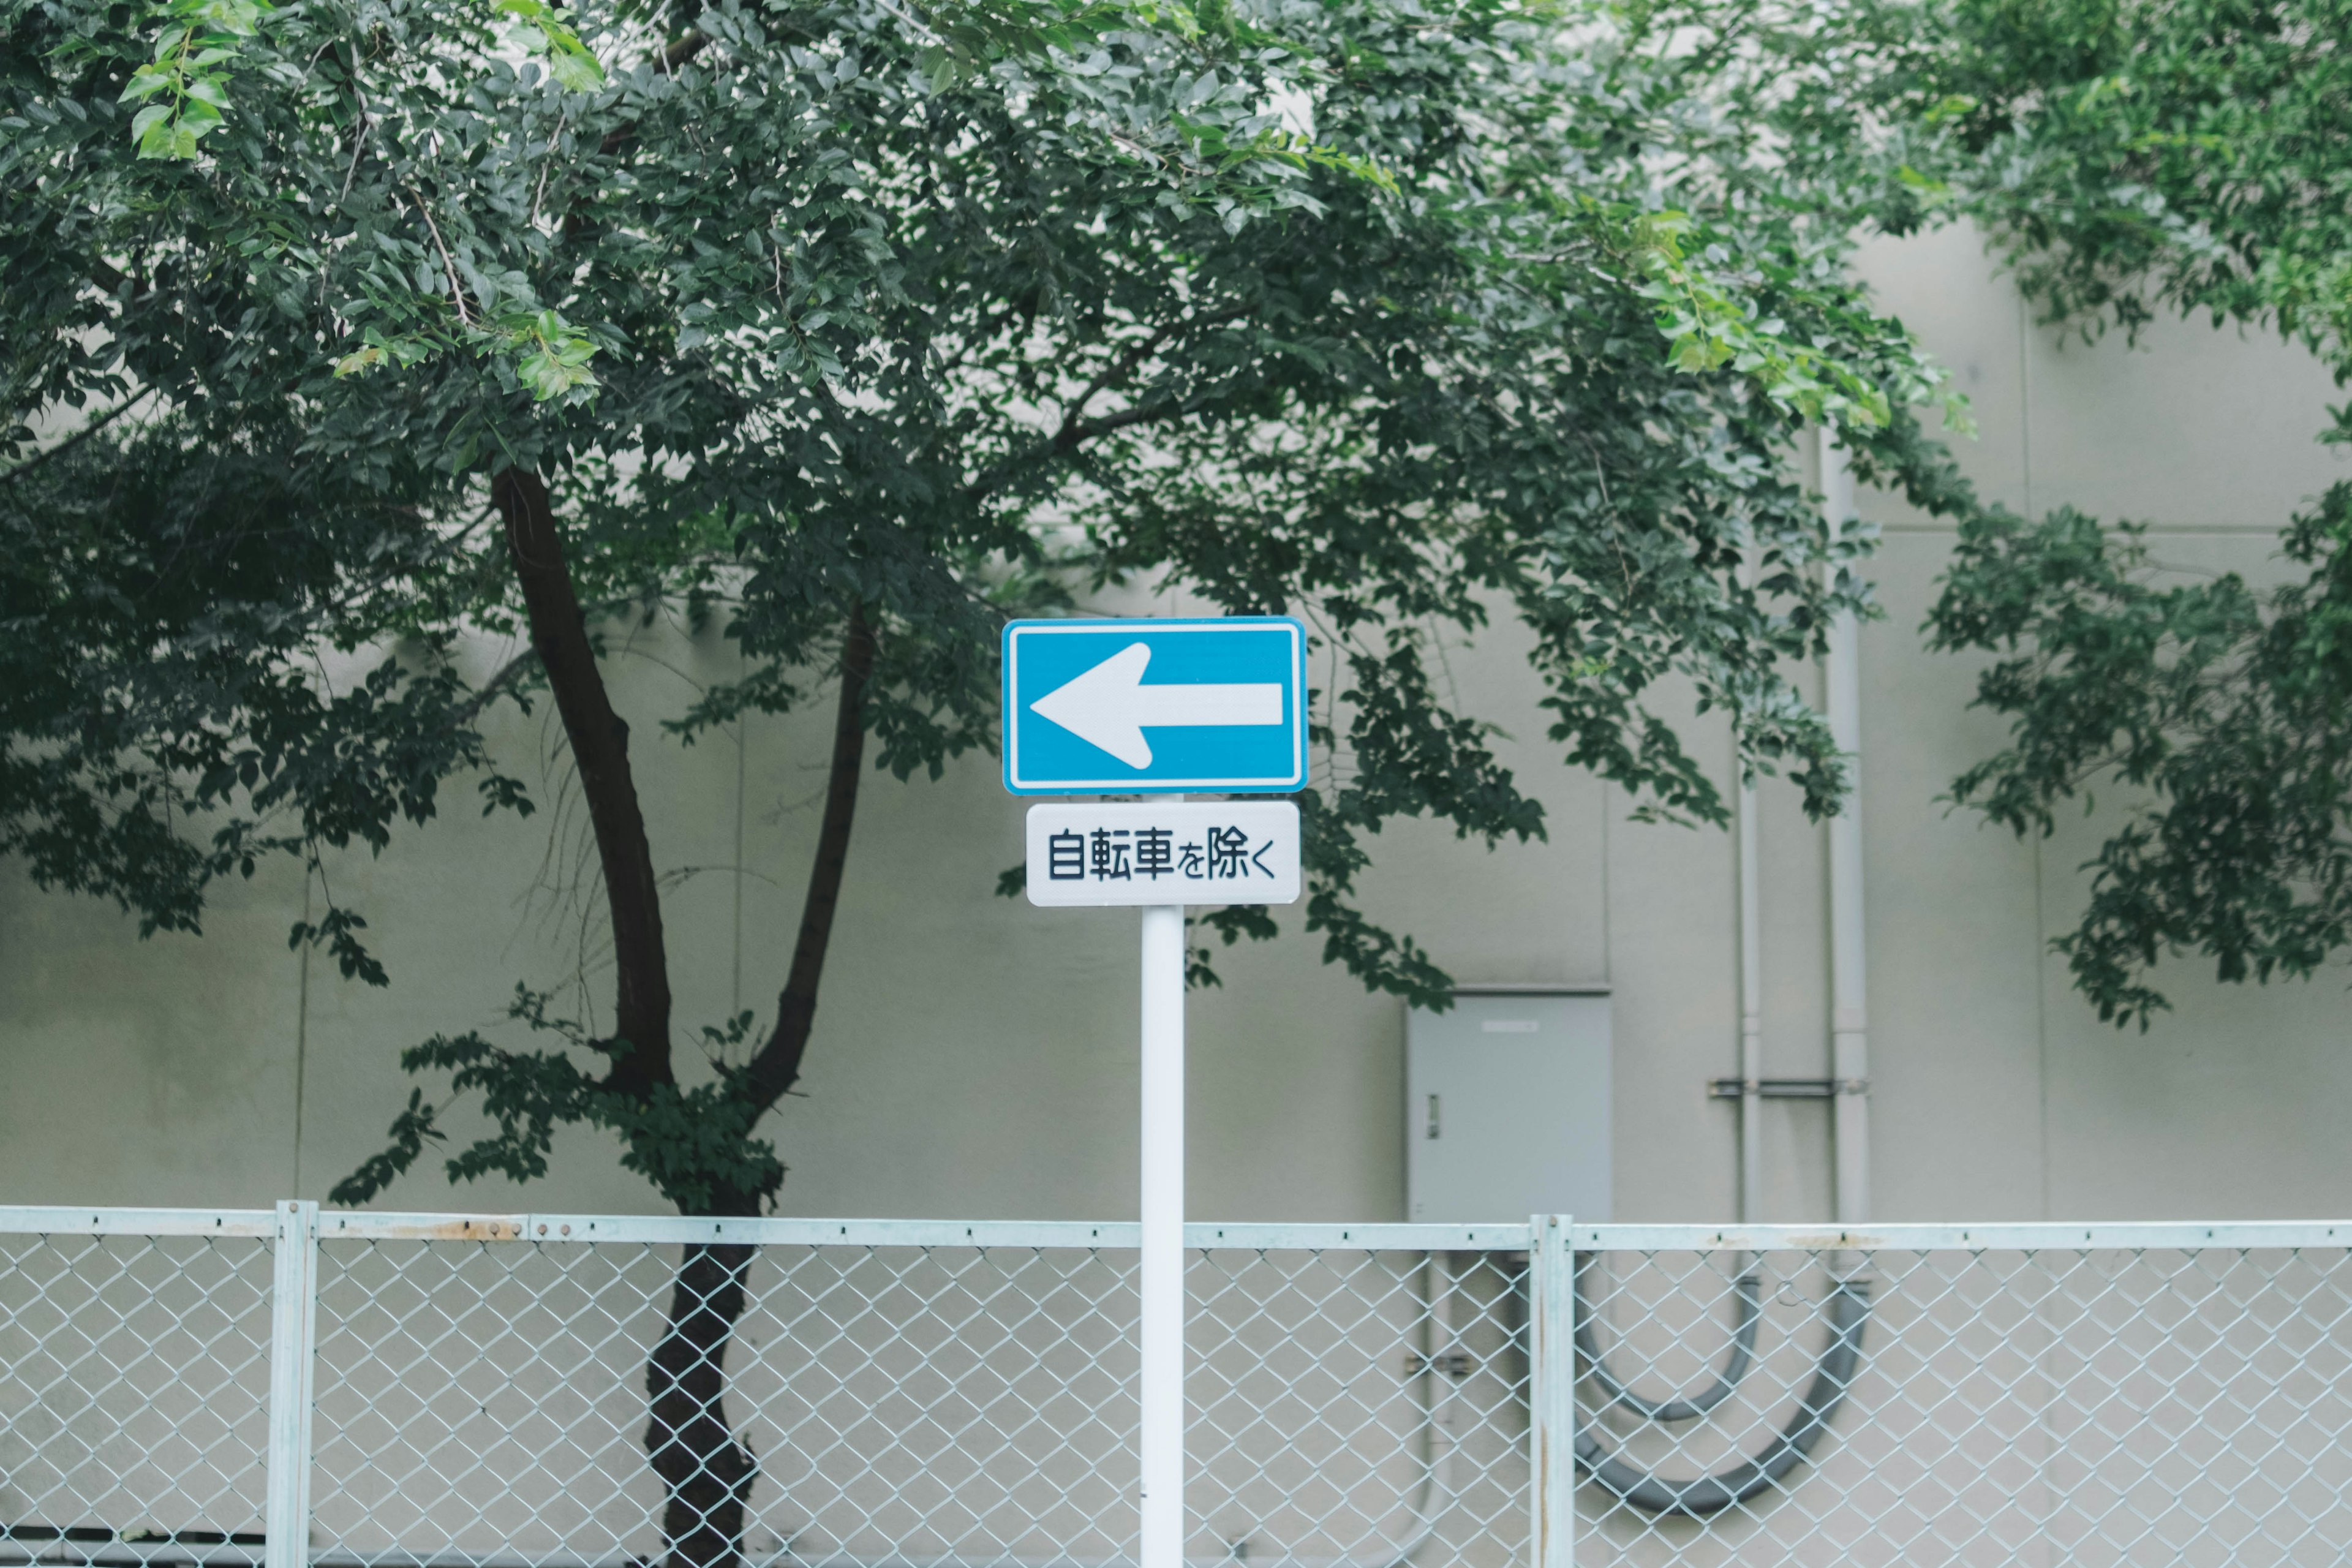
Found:
[[(661, 1542), (647, 1359), (680, 1248), (327, 1241), (313, 1509), (360, 1563), (619, 1563)], [(1127, 1248), (764, 1246), (727, 1354), (748, 1556), (1136, 1554)], [(1524, 1260), (1207, 1251), (1188, 1556), (1524, 1552)]]

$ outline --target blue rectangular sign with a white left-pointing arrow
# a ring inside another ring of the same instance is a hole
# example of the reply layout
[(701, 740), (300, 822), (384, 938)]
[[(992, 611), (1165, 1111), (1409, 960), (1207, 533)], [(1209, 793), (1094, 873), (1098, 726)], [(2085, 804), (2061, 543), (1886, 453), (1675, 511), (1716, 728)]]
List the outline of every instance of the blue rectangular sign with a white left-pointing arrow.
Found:
[(1014, 795), (1289, 792), (1308, 783), (1308, 628), (1014, 621), (1004, 788)]

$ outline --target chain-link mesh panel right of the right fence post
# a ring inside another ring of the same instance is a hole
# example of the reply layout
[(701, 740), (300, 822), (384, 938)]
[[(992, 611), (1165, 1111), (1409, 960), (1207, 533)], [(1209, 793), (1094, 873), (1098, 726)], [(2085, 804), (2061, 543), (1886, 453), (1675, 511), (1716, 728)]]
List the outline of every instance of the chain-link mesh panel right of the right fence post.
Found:
[[(2352, 1556), (2343, 1251), (1609, 1251), (1581, 1276), (1604, 1373), (1588, 1356), (1581, 1425), (1684, 1486), (1785, 1450), (1839, 1338), (1832, 1300), (1867, 1305), (1837, 1408), (1780, 1483), (1691, 1519), (1588, 1479), (1583, 1561)], [(1653, 1420), (1611, 1399), (1611, 1382), (1651, 1401), (1726, 1382), (1748, 1300), (1755, 1356), (1715, 1408)]]

